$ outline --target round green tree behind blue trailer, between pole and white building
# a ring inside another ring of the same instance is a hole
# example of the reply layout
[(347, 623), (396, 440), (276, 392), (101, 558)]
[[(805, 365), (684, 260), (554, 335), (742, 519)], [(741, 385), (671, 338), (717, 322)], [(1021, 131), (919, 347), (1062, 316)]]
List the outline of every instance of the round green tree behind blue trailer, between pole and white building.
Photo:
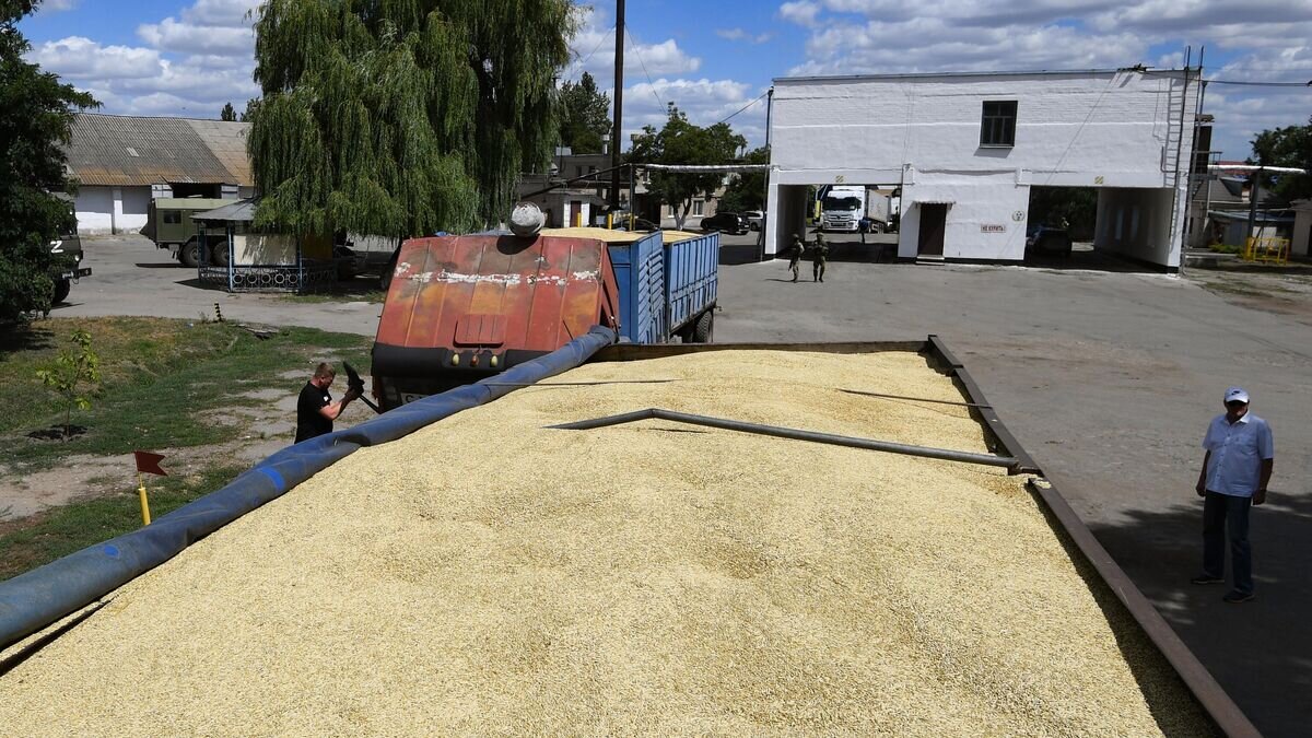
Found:
[[(634, 139), (630, 159), (640, 164), (728, 164), (747, 146), (747, 139), (733, 133), (728, 123), (701, 127), (687, 122), (673, 102), (669, 104), (665, 126), (656, 130), (644, 126)], [(711, 197), (720, 186), (720, 172), (665, 172), (652, 171), (647, 189), (674, 210), (680, 228), (687, 219), (697, 196)]]

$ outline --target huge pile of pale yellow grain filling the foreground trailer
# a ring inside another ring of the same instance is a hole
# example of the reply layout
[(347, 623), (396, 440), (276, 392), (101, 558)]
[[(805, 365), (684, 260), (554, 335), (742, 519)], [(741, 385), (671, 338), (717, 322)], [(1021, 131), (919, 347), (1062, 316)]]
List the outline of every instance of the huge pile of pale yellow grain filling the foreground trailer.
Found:
[(1203, 734), (914, 355), (598, 364), (365, 449), (0, 678), (7, 733)]

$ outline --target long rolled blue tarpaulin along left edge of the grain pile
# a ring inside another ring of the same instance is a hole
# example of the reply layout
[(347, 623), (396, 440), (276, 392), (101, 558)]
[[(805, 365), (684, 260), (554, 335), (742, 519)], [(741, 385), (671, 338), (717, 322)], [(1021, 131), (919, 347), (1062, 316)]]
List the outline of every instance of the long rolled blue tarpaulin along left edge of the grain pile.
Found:
[(573, 369), (613, 343), (614, 331), (593, 327), (541, 358), (497, 374), (496, 386), (475, 383), (458, 387), (404, 404), (354, 428), (287, 446), (244, 471), (228, 486), (139, 531), (0, 582), (0, 649), (94, 603), (361, 446), (394, 441), (449, 415), (488, 403), (514, 389), (508, 385), (533, 383)]

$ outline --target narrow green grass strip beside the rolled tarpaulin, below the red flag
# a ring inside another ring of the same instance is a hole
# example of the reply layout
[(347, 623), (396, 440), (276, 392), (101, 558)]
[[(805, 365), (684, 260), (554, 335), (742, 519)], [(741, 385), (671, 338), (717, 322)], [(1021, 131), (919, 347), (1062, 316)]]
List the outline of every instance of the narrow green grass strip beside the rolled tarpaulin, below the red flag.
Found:
[[(151, 517), (159, 519), (223, 487), (240, 466), (211, 466), (189, 477), (152, 477)], [(0, 580), (142, 527), (136, 491), (72, 502), (49, 512), (0, 524)]]

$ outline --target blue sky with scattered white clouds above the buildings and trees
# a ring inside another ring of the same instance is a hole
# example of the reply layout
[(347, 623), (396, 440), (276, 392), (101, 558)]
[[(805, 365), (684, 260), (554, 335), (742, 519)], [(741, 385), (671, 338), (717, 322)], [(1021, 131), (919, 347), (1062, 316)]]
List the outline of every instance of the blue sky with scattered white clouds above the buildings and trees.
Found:
[[(20, 28), (31, 60), (104, 112), (218, 117), (251, 81), (257, 0), (45, 0)], [(583, 5), (564, 76), (611, 87), (614, 3)], [(760, 97), (773, 77), (832, 74), (1178, 67), (1206, 45), (1216, 148), (1249, 154), (1263, 129), (1303, 125), (1312, 80), (1312, 0), (628, 0), (625, 129), (659, 125), (674, 101), (702, 125)], [(765, 104), (731, 121), (765, 139)]]

